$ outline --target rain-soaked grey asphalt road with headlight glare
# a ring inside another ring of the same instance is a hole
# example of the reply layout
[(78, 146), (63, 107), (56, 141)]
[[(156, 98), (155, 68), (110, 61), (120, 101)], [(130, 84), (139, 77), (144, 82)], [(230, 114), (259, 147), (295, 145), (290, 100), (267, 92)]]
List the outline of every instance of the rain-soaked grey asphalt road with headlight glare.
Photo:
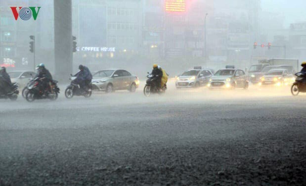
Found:
[(306, 94), (0, 100), (0, 185), (306, 185)]

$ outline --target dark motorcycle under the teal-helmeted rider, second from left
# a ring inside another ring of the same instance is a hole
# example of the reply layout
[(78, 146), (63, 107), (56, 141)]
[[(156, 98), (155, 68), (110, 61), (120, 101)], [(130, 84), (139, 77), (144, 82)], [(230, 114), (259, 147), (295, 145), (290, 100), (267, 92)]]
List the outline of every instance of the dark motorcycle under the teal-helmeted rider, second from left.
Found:
[(33, 102), (35, 99), (50, 99), (50, 100), (56, 100), (59, 94), (59, 88), (57, 86), (57, 81), (52, 80), (51, 82), (51, 88), (53, 93), (50, 93), (46, 90), (44, 90), (43, 81), (41, 78), (37, 77), (33, 79), (31, 82), (29, 82), (27, 88), (28, 93), (26, 94), (26, 99), (29, 102)]

